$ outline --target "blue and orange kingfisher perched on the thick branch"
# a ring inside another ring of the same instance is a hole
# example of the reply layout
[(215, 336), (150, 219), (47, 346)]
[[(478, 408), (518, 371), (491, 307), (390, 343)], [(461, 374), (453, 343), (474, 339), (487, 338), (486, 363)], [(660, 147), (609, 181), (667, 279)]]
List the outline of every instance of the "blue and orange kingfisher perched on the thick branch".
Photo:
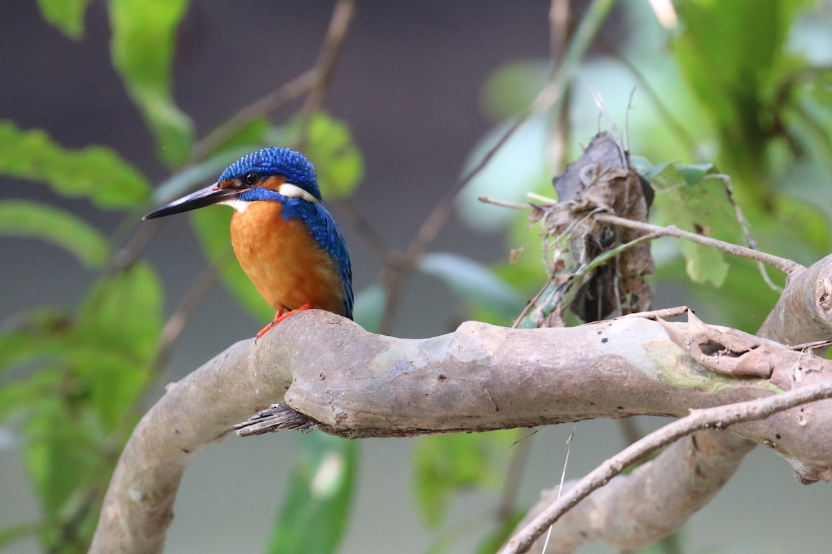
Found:
[(319, 308), (353, 318), (353, 276), (338, 225), (321, 205), (314, 165), (300, 152), (265, 148), (230, 164), (215, 184), (174, 200), (143, 219), (226, 204), (231, 246), (275, 319)]

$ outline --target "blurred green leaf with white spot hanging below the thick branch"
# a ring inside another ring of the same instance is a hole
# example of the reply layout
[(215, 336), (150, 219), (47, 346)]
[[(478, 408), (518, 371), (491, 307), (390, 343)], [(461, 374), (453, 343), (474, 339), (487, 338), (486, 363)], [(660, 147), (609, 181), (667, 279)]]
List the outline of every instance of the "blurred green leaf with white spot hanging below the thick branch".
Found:
[(353, 498), (359, 443), (313, 431), (299, 435), (298, 446), (298, 461), (268, 552), (335, 552)]

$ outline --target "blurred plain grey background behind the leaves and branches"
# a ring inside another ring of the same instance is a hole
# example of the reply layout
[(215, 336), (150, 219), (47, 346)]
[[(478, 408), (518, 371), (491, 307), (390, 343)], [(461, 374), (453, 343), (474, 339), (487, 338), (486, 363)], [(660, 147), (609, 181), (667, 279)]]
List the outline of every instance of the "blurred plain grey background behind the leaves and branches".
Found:
[[(174, 79), (176, 100), (196, 121), (198, 134), (309, 68), (331, 8), (332, 2), (194, 2), (181, 27)], [(325, 105), (352, 126), (366, 162), (355, 203), (389, 243), (409, 243), (490, 129), (478, 105), (489, 73), (518, 58), (547, 58), (548, 8), (542, 0), (359, 2)], [(655, 22), (613, 14), (605, 36), (620, 41), (641, 25)], [(4, 2), (0, 117), (22, 129), (46, 129), (62, 145), (110, 145), (152, 179), (164, 179), (151, 135), (111, 68), (108, 38), (104, 2), (92, 2), (81, 42), (44, 24), (35, 2)], [(629, 91), (634, 83), (618, 85)], [(585, 141), (595, 130), (576, 129), (575, 140)], [(60, 203), (109, 231), (119, 221), (84, 201), (53, 196), (40, 184), (0, 179), (0, 191), (3, 198)], [(333, 212), (339, 218), (337, 206)], [(165, 225), (164, 240), (156, 238), (148, 255), (165, 280), (169, 312), (204, 261), (186, 218)], [(360, 291), (377, 276), (379, 261), (352, 229), (344, 232)], [(508, 252), (501, 237), (473, 233), (459, 223), (443, 231), (435, 249), (483, 262), (502, 260)], [(41, 304), (76, 306), (94, 277), (50, 245), (3, 238), (0, 321)], [(395, 334), (438, 335), (455, 326), (458, 313), (438, 282), (418, 277)], [(166, 380), (180, 379), (262, 325), (215, 287), (181, 337)], [(660, 423), (639, 420), (644, 430)], [(571, 430), (567, 425), (537, 434), (522, 481), (523, 502), (532, 503), (540, 488), (557, 483)], [(207, 447), (186, 473), (166, 552), (262, 552), (280, 507), (294, 440), (291, 434), (229, 437)], [(342, 552), (425, 552), (438, 535), (423, 527), (412, 507), (412, 441), (364, 443), (359, 494)], [(615, 422), (578, 424), (567, 478), (587, 473), (622, 446)], [(0, 529), (37, 518), (20, 451), (8, 433), (0, 435), (0, 483)], [(454, 503), (454, 527), (470, 530), (454, 552), (473, 549), (497, 496), (497, 491), (470, 494)], [(716, 500), (691, 519), (684, 552), (829, 552), (830, 508), (830, 485), (801, 486), (785, 461), (757, 449)], [(37, 543), (16, 543), (11, 552), (37, 552)]]

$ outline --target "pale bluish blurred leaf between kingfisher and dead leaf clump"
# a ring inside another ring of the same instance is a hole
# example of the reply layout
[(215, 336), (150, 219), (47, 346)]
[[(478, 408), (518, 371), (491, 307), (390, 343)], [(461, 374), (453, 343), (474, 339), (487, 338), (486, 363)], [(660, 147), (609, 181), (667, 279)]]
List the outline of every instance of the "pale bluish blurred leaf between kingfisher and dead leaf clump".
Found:
[(518, 314), (523, 298), (483, 264), (448, 252), (431, 252), (422, 258), (419, 271), (445, 282), (463, 301), (488, 308), (505, 317)]

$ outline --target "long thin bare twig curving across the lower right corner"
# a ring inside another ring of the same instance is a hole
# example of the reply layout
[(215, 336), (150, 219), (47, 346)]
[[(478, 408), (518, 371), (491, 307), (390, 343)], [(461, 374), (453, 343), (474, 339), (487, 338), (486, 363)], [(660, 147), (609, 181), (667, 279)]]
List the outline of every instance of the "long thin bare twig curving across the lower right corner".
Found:
[(532, 543), (541, 537), (548, 527), (557, 522), (564, 513), (582, 499), (587, 498), (590, 493), (601, 488), (631, 464), (646, 458), (656, 449), (661, 449), (681, 437), (700, 429), (726, 429), (732, 424), (765, 419), (785, 409), (828, 398), (832, 398), (832, 382), (808, 385), (781, 395), (770, 395), (746, 402), (716, 406), (716, 408), (693, 410), (690, 415), (648, 434), (644, 439), (631, 444), (593, 469), (564, 496), (537, 514), (537, 517), (534, 517), (526, 527), (515, 534), (500, 552), (501, 554), (527, 552), (532, 547)]

